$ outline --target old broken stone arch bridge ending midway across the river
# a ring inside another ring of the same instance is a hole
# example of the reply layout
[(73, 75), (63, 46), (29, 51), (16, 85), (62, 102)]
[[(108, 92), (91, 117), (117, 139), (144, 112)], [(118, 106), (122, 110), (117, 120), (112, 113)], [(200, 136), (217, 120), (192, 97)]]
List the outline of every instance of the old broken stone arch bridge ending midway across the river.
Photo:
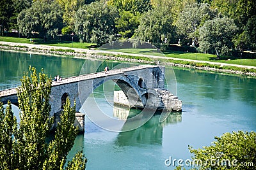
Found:
[[(164, 66), (141, 65), (122, 69), (112, 69), (105, 72), (84, 74), (64, 78), (62, 81), (52, 81), (51, 90), (51, 116), (63, 110), (63, 104), (70, 97), (71, 104), (76, 100), (76, 111), (82, 107), (93, 90), (105, 81), (113, 80), (122, 89), (131, 108), (149, 108), (168, 111), (181, 111), (182, 103), (168, 90), (164, 89)], [(116, 96), (115, 96), (116, 97)], [(118, 96), (120, 97), (120, 96)], [(16, 89), (0, 91), (0, 101), (4, 104), (10, 100), (17, 105)], [(122, 103), (122, 99), (115, 99)]]

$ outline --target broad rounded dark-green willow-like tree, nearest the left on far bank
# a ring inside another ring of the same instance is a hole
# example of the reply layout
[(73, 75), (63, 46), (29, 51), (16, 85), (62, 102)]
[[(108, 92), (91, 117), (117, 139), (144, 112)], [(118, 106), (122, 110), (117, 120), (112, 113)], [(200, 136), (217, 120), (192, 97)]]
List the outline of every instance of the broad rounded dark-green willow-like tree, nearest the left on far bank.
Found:
[(62, 11), (55, 1), (35, 1), (31, 8), (22, 10), (17, 18), (19, 31), (25, 36), (39, 32), (40, 36), (53, 37), (63, 26)]

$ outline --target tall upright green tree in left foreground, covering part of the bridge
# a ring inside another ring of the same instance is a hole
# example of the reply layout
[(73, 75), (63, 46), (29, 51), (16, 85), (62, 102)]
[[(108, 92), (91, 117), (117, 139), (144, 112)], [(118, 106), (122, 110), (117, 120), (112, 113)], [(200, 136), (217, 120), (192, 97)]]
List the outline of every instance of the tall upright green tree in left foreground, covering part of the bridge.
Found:
[[(42, 71), (39, 76), (35, 67), (29, 67), (28, 73), (21, 80), (17, 89), (20, 112), (20, 124), (11, 110), (10, 103), (4, 114), (3, 104), (0, 104), (1, 148), (0, 159), (3, 169), (63, 169), (67, 154), (74, 145), (77, 128), (74, 127), (75, 107), (70, 107), (67, 99), (61, 122), (58, 124), (55, 138), (46, 143), (52, 128), (53, 119), (49, 117), (51, 106), (51, 79)], [(85, 167), (86, 159), (81, 152), (77, 153), (76, 165), (68, 167)], [(74, 160), (72, 160), (74, 162)]]

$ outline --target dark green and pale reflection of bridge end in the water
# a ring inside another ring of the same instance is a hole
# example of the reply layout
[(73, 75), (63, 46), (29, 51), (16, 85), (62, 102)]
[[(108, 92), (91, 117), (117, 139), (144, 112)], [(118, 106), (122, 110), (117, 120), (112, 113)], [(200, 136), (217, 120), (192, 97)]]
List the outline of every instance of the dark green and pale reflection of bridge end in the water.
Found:
[[(148, 110), (150, 111), (150, 110)], [(114, 107), (113, 114), (116, 118), (129, 118), (136, 114), (139, 114), (140, 110), (127, 109), (122, 107)], [(163, 128), (169, 124), (177, 124), (182, 121), (182, 114), (179, 112), (172, 112), (164, 122), (159, 122), (159, 118), (161, 117), (162, 112), (157, 111), (150, 120), (144, 125), (141, 125), (138, 129), (134, 129), (132, 131), (120, 132), (116, 137), (117, 145), (139, 145), (139, 144), (162, 144), (163, 137)], [(148, 114), (150, 115), (150, 114)], [(140, 120), (137, 120), (140, 121)], [(124, 124), (122, 129), (127, 129)], [(128, 127), (129, 128), (129, 127)]]

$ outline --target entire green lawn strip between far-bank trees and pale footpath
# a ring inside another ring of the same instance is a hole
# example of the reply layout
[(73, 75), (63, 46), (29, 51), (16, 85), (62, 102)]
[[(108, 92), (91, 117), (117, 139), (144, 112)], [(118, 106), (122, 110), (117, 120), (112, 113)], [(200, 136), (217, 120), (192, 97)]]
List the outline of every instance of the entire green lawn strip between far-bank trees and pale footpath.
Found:
[[(94, 43), (79, 43), (72, 41), (60, 41), (60, 40), (47, 40), (44, 42), (44, 39), (35, 38), (34, 44), (38, 45), (50, 45), (50, 46), (63, 46), (69, 48), (90, 48), (95, 46)], [(13, 37), (0, 37), (0, 41), (15, 42), (15, 43), (31, 43), (29, 38), (13, 38)], [(157, 52), (156, 48), (147, 48), (147, 49), (138, 49), (138, 48), (123, 48), (123, 49), (100, 49), (108, 50), (113, 52), (125, 52), (125, 53), (140, 53), (144, 55), (156, 55), (156, 56), (165, 56), (173, 57), (180, 59), (191, 59), (191, 60), (202, 60), (202, 61), (212, 61), (212, 62), (221, 62), (228, 64), (242, 64), (245, 66), (256, 66), (256, 59), (239, 59), (236, 57), (221, 57), (217, 60), (216, 55), (207, 54), (207, 53), (186, 53), (186, 52), (177, 52), (177, 51), (163, 51)]]

